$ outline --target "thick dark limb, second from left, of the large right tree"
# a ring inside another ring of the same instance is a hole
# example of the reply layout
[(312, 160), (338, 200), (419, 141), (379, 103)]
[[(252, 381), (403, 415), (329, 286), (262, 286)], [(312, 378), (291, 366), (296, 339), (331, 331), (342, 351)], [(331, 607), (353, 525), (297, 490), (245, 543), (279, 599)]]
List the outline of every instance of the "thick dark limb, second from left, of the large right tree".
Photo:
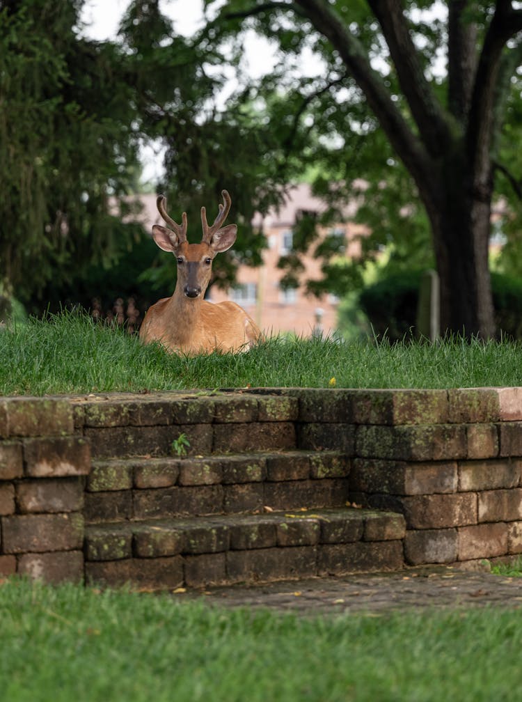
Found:
[(401, 0), (368, 0), (394, 62), (399, 84), (429, 153), (437, 157), (448, 146), (446, 115), (436, 100), (417, 55)]

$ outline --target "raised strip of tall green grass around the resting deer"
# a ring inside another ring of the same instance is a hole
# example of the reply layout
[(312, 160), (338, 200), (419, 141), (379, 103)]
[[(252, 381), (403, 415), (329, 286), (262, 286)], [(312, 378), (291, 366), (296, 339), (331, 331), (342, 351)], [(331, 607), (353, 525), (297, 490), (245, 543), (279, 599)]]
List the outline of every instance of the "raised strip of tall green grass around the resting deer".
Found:
[(248, 353), (168, 355), (120, 329), (63, 313), (0, 331), (0, 394), (193, 388), (468, 388), (522, 385), (520, 343), (340, 343), (272, 338)]

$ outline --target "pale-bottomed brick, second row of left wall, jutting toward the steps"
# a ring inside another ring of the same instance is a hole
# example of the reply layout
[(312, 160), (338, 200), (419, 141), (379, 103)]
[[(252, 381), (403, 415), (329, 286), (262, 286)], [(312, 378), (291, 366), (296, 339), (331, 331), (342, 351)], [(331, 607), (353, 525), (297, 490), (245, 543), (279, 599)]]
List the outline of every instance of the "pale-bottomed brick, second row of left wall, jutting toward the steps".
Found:
[(30, 477), (88, 475), (91, 445), (79, 437), (25, 439), (24, 460)]

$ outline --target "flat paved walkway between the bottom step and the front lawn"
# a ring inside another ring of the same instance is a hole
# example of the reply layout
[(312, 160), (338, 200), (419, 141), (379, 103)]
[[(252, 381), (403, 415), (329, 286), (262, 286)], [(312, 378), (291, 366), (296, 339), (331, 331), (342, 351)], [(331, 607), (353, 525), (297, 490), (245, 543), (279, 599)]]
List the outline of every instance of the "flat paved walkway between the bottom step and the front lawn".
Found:
[(221, 607), (267, 607), (298, 614), (385, 614), (443, 607), (522, 607), (522, 578), (446, 567), (309, 578), (267, 585), (233, 585), (179, 592)]

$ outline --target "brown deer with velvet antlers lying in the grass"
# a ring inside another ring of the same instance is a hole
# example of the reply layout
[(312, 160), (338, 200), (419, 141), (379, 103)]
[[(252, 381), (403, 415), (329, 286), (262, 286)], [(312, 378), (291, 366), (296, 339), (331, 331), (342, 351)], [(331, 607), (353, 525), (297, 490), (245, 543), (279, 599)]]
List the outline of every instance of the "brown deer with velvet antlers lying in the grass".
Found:
[(187, 213), (177, 224), (166, 212), (166, 198), (159, 195), (158, 211), (167, 227), (154, 225), (152, 236), (163, 251), (171, 251), (178, 260), (178, 282), (173, 296), (149, 307), (140, 329), (140, 339), (159, 341), (168, 351), (182, 355), (239, 352), (250, 348), (260, 338), (257, 325), (244, 310), (227, 301), (213, 304), (203, 300), (212, 262), (217, 253), (230, 249), (236, 241), (237, 226), (222, 226), (232, 200), (222, 190), (223, 203), (212, 226), (208, 226), (206, 210), (201, 208), (203, 238), (201, 244), (187, 241)]

